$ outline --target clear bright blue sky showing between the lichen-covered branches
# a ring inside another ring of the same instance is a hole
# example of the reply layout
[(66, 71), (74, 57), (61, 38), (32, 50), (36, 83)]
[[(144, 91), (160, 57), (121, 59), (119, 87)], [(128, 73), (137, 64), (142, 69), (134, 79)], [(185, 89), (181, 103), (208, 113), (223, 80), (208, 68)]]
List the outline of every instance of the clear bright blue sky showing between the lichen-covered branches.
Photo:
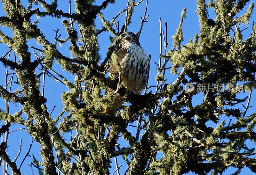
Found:
[[(46, 0), (46, 2), (50, 3), (51, 1)], [(71, 2), (73, 2), (73, 0), (71, 0)], [(103, 2), (103, 0), (97, 1), (96, 4), (101, 4), (102, 2)], [(139, 1), (137, 0), (136, 3), (137, 2), (139, 2)], [(24, 4), (25, 7), (27, 7), (27, 1), (23, 0), (22, 3)], [(59, 0), (58, 3), (59, 3), (59, 9), (62, 9), (64, 12), (68, 12), (68, 0)], [(127, 4), (126, 0), (119, 0), (114, 5), (112, 5), (112, 4), (108, 5), (108, 7), (102, 13), (105, 16), (106, 20), (111, 21), (112, 18), (116, 15), (116, 13), (118, 13), (120, 10), (126, 8), (126, 4)], [(144, 15), (145, 5), (146, 5), (146, 0), (144, 0), (139, 6), (135, 7), (135, 11), (132, 16), (132, 23), (128, 27), (128, 31), (136, 33), (140, 30), (140, 23), (141, 23), (140, 17), (143, 17), (143, 15)], [(200, 30), (198, 17), (195, 12), (196, 11), (196, 1), (193, 1), (193, 0), (162, 0), (162, 1), (149, 0), (149, 2), (148, 2), (147, 14), (149, 14), (149, 18), (148, 18), (149, 21), (144, 24), (144, 27), (142, 29), (142, 33), (140, 35), (140, 44), (144, 48), (144, 50), (146, 51), (146, 53), (148, 55), (151, 54), (149, 85), (156, 84), (154, 77), (157, 74), (157, 71), (156, 71), (157, 67), (153, 63), (153, 61), (158, 62), (158, 59), (159, 59), (159, 18), (162, 18), (163, 29), (164, 29), (164, 22), (165, 21), (168, 22), (169, 45), (167, 47), (167, 50), (172, 49), (171, 36), (175, 33), (175, 31), (180, 23), (180, 14), (184, 7), (187, 8), (187, 18), (185, 18), (184, 24), (183, 24), (183, 34), (184, 34), (183, 44), (186, 44), (188, 42), (188, 40), (190, 38), (194, 38), (195, 33), (199, 33), (199, 30)], [(36, 6), (33, 6), (32, 8), (36, 8)], [(74, 11), (74, 5), (72, 5), (72, 11)], [(242, 12), (242, 13), (244, 13), (244, 12)], [(2, 10), (2, 3), (0, 3), (0, 16), (2, 16), (2, 15), (5, 15), (5, 13)], [(209, 16), (212, 17), (212, 15), (214, 15), (214, 12), (209, 9)], [(252, 20), (255, 20), (255, 17), (256, 17), (256, 13), (253, 13)], [(117, 18), (116, 22), (119, 20), (120, 26), (121, 26), (124, 23), (124, 18), (125, 18), (125, 13), (122, 13)], [(32, 18), (32, 21), (33, 20), (36, 20), (36, 18), (35, 17)], [(244, 38), (247, 38), (250, 35), (251, 27), (252, 27), (252, 20), (249, 25), (249, 29), (245, 30), (243, 33)], [(98, 28), (102, 28), (102, 23), (98, 17), (96, 18), (95, 22), (96, 22), (96, 26)], [(41, 28), (42, 32), (45, 34), (46, 39), (48, 39), (52, 43), (54, 42), (54, 37), (55, 37), (55, 32), (53, 30), (59, 29), (59, 34), (61, 34), (60, 38), (65, 39), (67, 36), (66, 32), (64, 30), (64, 27), (61, 25), (61, 19), (55, 19), (55, 18), (51, 18), (51, 17), (40, 18), (40, 23), (38, 24), (38, 26), (39, 26), (39, 28)], [(75, 28), (78, 30), (77, 26), (75, 26)], [(0, 29), (3, 30), (4, 32), (8, 33), (9, 36), (12, 36), (10, 29), (8, 29), (6, 27), (0, 27)], [(107, 52), (107, 48), (110, 44), (110, 41), (108, 40), (109, 36), (112, 36), (112, 35), (111, 35), (111, 33), (108, 33), (108, 32), (104, 32), (99, 35), (100, 56), (102, 58), (101, 61), (104, 60), (104, 58), (106, 56), (105, 54)], [(3, 55), (5, 53), (5, 50), (8, 49), (8, 47), (3, 44), (0, 44), (0, 45), (1, 45), (0, 47), (2, 48), (1, 54)], [(36, 41), (29, 40), (28, 45), (35, 46)], [(64, 43), (62, 47), (58, 46), (58, 49), (64, 55), (71, 57), (68, 47), (69, 47), (69, 42)], [(41, 48), (41, 46), (38, 46), (38, 48)], [(33, 49), (30, 49), (30, 51), (32, 52)], [(32, 54), (32, 60), (35, 60), (35, 59), (36, 58)], [(169, 66), (171, 66), (170, 63), (168, 63), (167, 67), (169, 67)], [(38, 67), (38, 68), (40, 68), (40, 67)], [(60, 65), (57, 65), (56, 62), (52, 68), (55, 71), (57, 71), (58, 73), (64, 75), (68, 80), (73, 81), (74, 76), (68, 74), (65, 71), (62, 71)], [(6, 70), (4, 69), (4, 67), (1, 67), (0, 75), (3, 75), (3, 76), (1, 76), (2, 78), (0, 78), (1, 85), (4, 85), (4, 81), (5, 81), (4, 80), (4, 72), (5, 71)], [(11, 72), (11, 70), (9, 70), (9, 71)], [(41, 70), (37, 69), (36, 72), (40, 73)], [(167, 70), (167, 72), (168, 73), (166, 74), (166, 78), (168, 80), (166, 83), (173, 82), (177, 76), (170, 74), (168, 70)], [(42, 81), (42, 79), (41, 79), (41, 81)], [(45, 79), (45, 84), (46, 84), (46, 86), (45, 86), (44, 93), (45, 93), (45, 97), (48, 99), (48, 101), (46, 102), (48, 111), (51, 112), (53, 106), (56, 106), (56, 108), (54, 109), (54, 111), (52, 113), (52, 116), (57, 117), (60, 114), (62, 108), (64, 107), (62, 105), (60, 96), (64, 91), (68, 91), (68, 88), (65, 87), (65, 85), (60, 84), (59, 82), (56, 82), (47, 76)], [(18, 87), (19, 86), (14, 84), (12, 91), (14, 91)], [(155, 89), (153, 89), (153, 91), (155, 91)], [(248, 94), (244, 94), (244, 96), (246, 96), (246, 95), (248, 95)], [(252, 97), (255, 97), (255, 95), (256, 94), (253, 93)], [(197, 105), (200, 102), (202, 102), (202, 95), (199, 94), (199, 95), (195, 96), (193, 99), (194, 99), (193, 105)], [(255, 106), (254, 98), (252, 98), (251, 105)], [(5, 104), (4, 104), (3, 100), (0, 100), (0, 107), (3, 110), (5, 110)], [(11, 114), (16, 111), (19, 111), (19, 110), (20, 110), (20, 106), (18, 104), (10, 106)], [(253, 112), (253, 109), (250, 108), (249, 111), (247, 112), (247, 114), (249, 115), (252, 112)], [(26, 118), (25, 115), (23, 117)], [(220, 121), (222, 121), (222, 120), (220, 120)], [(0, 124), (3, 125), (3, 122), (1, 122)], [(215, 126), (215, 124), (213, 124), (213, 123), (209, 123), (209, 125)], [(17, 128), (23, 128), (23, 126), (13, 125), (10, 130), (17, 129)], [(133, 128), (131, 127), (129, 129), (132, 131)], [(67, 141), (69, 141), (68, 140), (69, 137), (67, 136), (66, 138), (67, 138)], [(21, 149), (21, 154), (20, 154), (19, 158), (17, 159), (18, 166), (20, 165), (22, 159), (24, 158), (25, 154), (27, 153), (32, 138), (27, 134), (26, 130), (20, 130), (20, 131), (10, 133), (9, 140), (8, 140), (8, 146), (9, 146), (8, 154), (10, 155), (11, 160), (13, 160), (14, 157), (16, 157), (16, 155), (18, 153), (20, 139), (22, 139), (22, 149)], [(121, 138), (118, 143), (120, 143), (120, 147), (128, 146), (127, 142), (125, 142)], [(248, 144), (251, 144), (251, 143), (248, 141)], [(40, 155), (38, 154), (39, 150), (40, 150), (39, 145), (36, 142), (34, 142), (33, 146), (32, 146), (32, 151), (30, 152), (30, 155), (32, 156), (32, 154), (34, 154), (38, 160), (41, 160)], [(159, 154), (159, 157), (160, 156), (161, 156), (161, 154)], [(31, 174), (30, 168), (28, 166), (28, 164), (31, 161), (32, 161), (32, 157), (27, 157), (27, 159), (25, 160), (25, 162), (21, 168), (21, 172), (23, 174)], [(118, 157), (118, 164), (119, 165), (123, 164), (123, 166), (119, 170), (120, 174), (123, 174), (127, 168), (127, 165), (123, 161), (123, 159), (120, 157)], [(33, 168), (33, 170), (34, 170), (34, 173), (37, 174), (36, 168)], [(114, 164), (114, 159), (112, 159), (112, 168), (110, 169), (110, 173), (112, 174), (114, 171), (115, 171), (115, 164)], [(223, 174), (231, 174), (234, 171), (235, 171), (234, 168), (229, 168)], [(248, 168), (244, 168), (242, 170), (241, 174), (250, 173), (250, 172), (251, 171)]]

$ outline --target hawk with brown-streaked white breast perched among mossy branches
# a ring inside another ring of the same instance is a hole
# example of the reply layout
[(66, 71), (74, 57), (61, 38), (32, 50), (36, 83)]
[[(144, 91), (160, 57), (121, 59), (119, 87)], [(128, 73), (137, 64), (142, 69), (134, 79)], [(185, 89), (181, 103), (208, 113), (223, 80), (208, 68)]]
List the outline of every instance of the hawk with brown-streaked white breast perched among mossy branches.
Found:
[[(121, 79), (124, 87), (135, 93), (141, 93), (145, 88), (149, 75), (149, 58), (140, 46), (137, 36), (132, 32), (122, 33), (118, 40), (122, 48), (118, 51), (118, 59), (121, 66)], [(117, 68), (110, 64), (109, 73), (116, 72)], [(103, 110), (103, 113), (115, 115), (123, 103), (123, 99), (116, 96), (111, 106)]]

